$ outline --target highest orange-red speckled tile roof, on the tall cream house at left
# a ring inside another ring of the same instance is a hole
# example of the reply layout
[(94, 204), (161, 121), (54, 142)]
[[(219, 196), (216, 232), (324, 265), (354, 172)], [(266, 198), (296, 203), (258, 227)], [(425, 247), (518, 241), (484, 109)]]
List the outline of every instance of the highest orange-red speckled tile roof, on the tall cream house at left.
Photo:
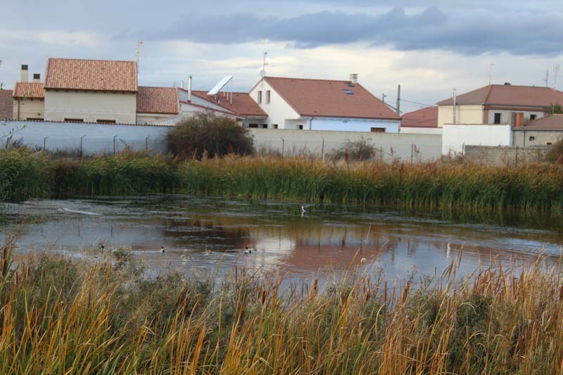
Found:
[(45, 70), (45, 89), (136, 92), (137, 63), (49, 58)]

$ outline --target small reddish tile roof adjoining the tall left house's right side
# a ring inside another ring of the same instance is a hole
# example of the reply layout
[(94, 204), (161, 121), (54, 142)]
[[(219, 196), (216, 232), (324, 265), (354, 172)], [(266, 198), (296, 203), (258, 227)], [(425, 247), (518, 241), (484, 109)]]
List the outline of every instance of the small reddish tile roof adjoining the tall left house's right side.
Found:
[(178, 110), (178, 90), (174, 87), (139, 86), (137, 113), (163, 113), (175, 115)]

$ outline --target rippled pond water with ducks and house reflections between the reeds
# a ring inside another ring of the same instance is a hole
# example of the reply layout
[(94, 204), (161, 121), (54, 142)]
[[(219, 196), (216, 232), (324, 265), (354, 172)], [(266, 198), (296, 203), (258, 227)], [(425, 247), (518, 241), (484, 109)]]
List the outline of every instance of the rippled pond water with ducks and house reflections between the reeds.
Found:
[(17, 259), (43, 251), (80, 258), (103, 244), (106, 251), (132, 250), (154, 273), (224, 274), (237, 265), (308, 276), (359, 267), (381, 268), (387, 279), (440, 274), (453, 261), (465, 272), (538, 253), (555, 262), (563, 246), (563, 231), (549, 217), (444, 218), (342, 205), (305, 210), (182, 195), (35, 200), (0, 206), (0, 236), (17, 234)]

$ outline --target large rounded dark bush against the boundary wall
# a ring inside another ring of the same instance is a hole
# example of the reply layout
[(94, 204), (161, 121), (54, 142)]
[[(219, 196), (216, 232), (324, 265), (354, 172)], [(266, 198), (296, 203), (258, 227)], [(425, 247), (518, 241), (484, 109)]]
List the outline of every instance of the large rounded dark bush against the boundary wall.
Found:
[(253, 139), (248, 129), (231, 118), (198, 113), (167, 134), (168, 150), (177, 158), (209, 158), (228, 153), (252, 155)]

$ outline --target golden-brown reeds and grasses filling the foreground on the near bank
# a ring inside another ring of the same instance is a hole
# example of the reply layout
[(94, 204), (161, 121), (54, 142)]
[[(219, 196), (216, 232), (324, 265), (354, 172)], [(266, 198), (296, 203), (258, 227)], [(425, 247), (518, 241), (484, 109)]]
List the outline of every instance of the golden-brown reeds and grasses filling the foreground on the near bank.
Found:
[[(494, 264), (391, 285), (350, 271), (281, 291), (279, 274), (143, 277), (2, 251), (0, 371), (96, 374), (560, 374), (560, 266)], [(560, 262), (559, 262), (560, 264)]]

